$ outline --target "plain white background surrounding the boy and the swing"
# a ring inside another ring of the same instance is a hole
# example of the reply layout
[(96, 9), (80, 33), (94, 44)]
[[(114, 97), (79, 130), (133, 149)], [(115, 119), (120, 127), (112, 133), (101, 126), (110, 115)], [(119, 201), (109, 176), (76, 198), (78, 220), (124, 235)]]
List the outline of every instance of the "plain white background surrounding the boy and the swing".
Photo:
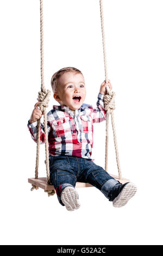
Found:
[[(55, 71), (75, 66), (85, 77), (85, 103), (96, 106), (105, 79), (99, 1), (43, 2), (46, 88)], [(56, 195), (28, 184), (36, 144), (27, 121), (41, 87), (40, 3), (0, 1), (2, 245), (162, 245), (162, 1), (104, 0), (104, 22), (122, 175), (138, 190), (116, 209), (96, 188), (78, 188), (82, 206), (68, 212)], [(51, 95), (48, 111), (56, 103)], [(93, 158), (104, 167), (105, 123), (94, 127)], [(109, 135), (109, 172), (117, 174)], [(41, 145), (40, 176), (44, 160)]]

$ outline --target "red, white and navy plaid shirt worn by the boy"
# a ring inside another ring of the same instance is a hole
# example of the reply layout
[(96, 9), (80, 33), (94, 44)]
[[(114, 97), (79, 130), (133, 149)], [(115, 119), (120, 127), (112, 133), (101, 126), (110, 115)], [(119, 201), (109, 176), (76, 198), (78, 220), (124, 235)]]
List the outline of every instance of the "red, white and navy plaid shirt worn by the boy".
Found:
[[(104, 95), (98, 94), (97, 107), (83, 104), (75, 114), (65, 105), (53, 106), (47, 113), (49, 155), (77, 156), (91, 159), (93, 147), (93, 123), (106, 119)], [(28, 129), (36, 142), (37, 121)], [(44, 124), (41, 124), (40, 143), (45, 142)]]

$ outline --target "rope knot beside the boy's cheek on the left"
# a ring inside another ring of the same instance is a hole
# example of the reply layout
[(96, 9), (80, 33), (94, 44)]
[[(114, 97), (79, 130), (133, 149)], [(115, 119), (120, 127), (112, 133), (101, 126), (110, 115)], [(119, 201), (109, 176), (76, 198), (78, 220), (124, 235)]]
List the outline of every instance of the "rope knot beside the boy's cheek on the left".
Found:
[(45, 108), (48, 107), (50, 95), (51, 95), (51, 91), (47, 89), (38, 93), (37, 101), (39, 101), (39, 107), (42, 113), (44, 113)]

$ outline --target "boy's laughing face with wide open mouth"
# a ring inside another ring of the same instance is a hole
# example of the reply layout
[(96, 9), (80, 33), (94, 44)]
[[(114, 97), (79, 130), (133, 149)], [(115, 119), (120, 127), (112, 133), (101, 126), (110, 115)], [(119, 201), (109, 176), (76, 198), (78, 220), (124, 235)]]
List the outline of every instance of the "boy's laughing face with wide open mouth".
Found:
[(80, 73), (66, 72), (58, 80), (54, 99), (71, 110), (79, 109), (86, 96), (84, 77)]

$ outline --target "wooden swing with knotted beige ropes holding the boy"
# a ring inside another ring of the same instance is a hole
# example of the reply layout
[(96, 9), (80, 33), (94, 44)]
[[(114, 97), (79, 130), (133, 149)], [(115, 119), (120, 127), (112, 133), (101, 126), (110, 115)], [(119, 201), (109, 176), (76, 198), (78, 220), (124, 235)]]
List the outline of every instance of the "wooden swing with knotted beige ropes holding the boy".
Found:
[[(103, 1), (99, 0), (100, 13), (101, 13), (101, 27), (102, 27), (102, 41), (103, 41), (103, 54), (104, 54), (104, 68), (105, 68), (105, 81), (108, 81), (108, 71), (106, 64), (106, 52), (105, 52), (105, 34), (104, 34), (104, 17), (103, 17)], [(49, 96), (51, 92), (45, 88), (44, 85), (44, 74), (43, 74), (43, 0), (40, 0), (40, 37), (41, 37), (41, 92), (37, 100), (39, 101), (40, 110), (43, 113), (43, 120), (45, 123), (45, 152), (46, 152), (46, 173), (47, 178), (38, 178), (39, 169), (39, 150), (40, 150), (40, 127), (41, 119), (37, 121), (37, 149), (36, 149), (36, 167), (35, 167), (35, 178), (29, 178), (28, 182), (32, 184), (31, 190), (42, 188), (48, 193), (48, 196), (53, 196), (55, 194), (54, 186), (50, 182), (49, 174), (49, 153), (48, 153), (48, 133), (47, 133), (47, 113), (46, 107), (48, 107)], [(104, 107), (106, 111), (106, 138), (105, 138), (105, 170), (108, 172), (108, 136), (109, 136), (109, 114), (111, 115), (112, 131), (114, 136), (116, 161), (118, 168), (118, 176), (110, 174), (113, 178), (120, 181), (122, 184), (128, 182), (128, 179), (122, 178), (120, 160), (118, 155), (117, 138), (114, 123), (114, 113), (115, 109), (115, 93), (110, 92), (109, 87), (107, 88), (107, 93), (104, 96)], [(92, 187), (89, 183), (77, 182), (76, 187)]]

